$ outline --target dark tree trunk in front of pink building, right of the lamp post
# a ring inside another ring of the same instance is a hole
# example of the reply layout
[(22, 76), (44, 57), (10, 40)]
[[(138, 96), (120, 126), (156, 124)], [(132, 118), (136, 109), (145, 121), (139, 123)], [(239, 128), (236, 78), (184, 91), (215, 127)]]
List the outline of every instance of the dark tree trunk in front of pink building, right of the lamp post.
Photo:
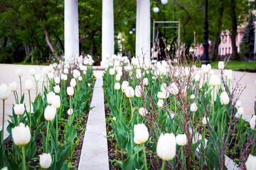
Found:
[(235, 43), (235, 38), (237, 35), (237, 30), (238, 30), (238, 22), (237, 18), (235, 15), (235, 0), (230, 0), (230, 8), (231, 8), (231, 45), (232, 45), (232, 57), (233, 60), (240, 60), (240, 57), (238, 55), (238, 48)]

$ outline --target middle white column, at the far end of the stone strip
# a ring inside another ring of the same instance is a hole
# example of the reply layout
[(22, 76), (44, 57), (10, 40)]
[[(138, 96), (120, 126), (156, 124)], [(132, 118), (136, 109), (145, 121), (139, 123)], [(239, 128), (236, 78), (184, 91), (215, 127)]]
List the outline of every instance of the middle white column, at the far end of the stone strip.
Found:
[(111, 55), (114, 55), (114, 5), (113, 0), (102, 0), (102, 67)]

